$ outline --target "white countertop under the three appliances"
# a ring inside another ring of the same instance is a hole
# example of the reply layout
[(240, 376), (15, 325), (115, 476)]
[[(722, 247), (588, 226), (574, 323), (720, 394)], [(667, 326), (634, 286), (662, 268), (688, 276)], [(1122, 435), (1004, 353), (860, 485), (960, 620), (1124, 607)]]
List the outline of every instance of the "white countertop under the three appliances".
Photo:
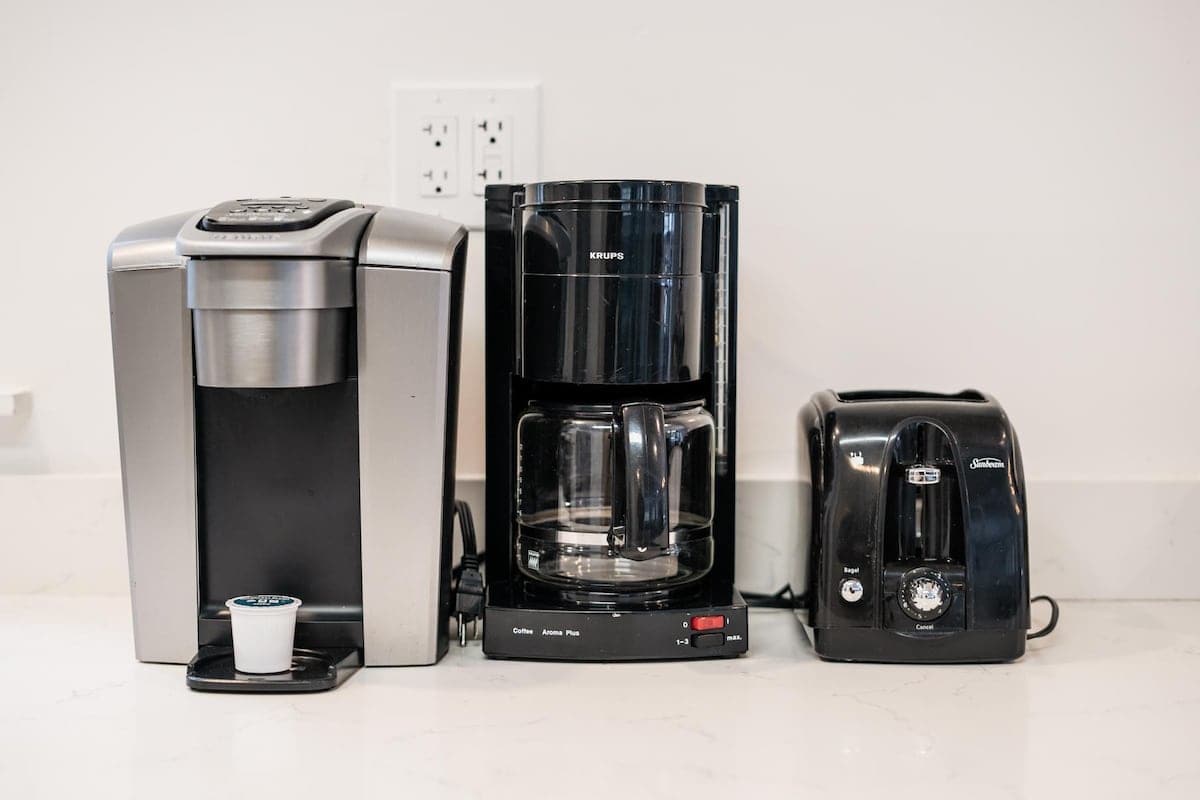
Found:
[(0, 596), (0, 795), (22, 800), (1200, 796), (1200, 602), (1063, 603), (1004, 666), (824, 663), (756, 610), (732, 661), (488, 661), (474, 642), (289, 696), (137, 663), (120, 597)]

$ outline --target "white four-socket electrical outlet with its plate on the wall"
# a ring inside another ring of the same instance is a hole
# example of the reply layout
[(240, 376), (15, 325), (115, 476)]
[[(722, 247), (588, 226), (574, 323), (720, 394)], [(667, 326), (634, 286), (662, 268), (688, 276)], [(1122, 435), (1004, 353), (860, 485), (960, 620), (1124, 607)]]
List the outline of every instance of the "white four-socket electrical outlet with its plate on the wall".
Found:
[(397, 85), (391, 203), (482, 228), (485, 186), (538, 179), (540, 128), (535, 84)]

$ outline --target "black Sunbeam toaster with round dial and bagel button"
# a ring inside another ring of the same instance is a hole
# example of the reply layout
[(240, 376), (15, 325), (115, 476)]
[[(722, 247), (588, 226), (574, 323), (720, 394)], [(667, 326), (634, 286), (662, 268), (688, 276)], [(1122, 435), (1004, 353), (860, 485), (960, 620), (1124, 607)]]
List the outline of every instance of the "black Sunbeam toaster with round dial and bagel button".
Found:
[(1025, 477), (1000, 404), (976, 391), (824, 391), (800, 429), (817, 655), (1019, 658), (1030, 627)]

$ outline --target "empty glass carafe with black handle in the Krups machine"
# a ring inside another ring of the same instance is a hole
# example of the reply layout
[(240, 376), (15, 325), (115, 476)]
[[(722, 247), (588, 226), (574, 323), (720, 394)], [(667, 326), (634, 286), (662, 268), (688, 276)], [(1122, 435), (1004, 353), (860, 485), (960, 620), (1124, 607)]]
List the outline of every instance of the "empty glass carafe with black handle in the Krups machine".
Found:
[(532, 403), (517, 440), (527, 577), (636, 596), (712, 569), (713, 417), (702, 402)]

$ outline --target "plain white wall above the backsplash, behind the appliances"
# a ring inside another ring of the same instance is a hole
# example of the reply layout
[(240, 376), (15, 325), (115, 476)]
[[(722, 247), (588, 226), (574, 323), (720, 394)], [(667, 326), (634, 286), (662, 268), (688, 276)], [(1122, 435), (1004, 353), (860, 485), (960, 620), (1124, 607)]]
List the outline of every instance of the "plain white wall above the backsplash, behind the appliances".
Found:
[[(742, 186), (744, 475), (797, 476), (814, 390), (976, 386), (1034, 481), (1116, 487), (1122, 507), (1124, 483), (1165, 481), (1182, 504), (1198, 46), (1186, 0), (6, 2), (0, 384), (34, 408), (0, 420), (0, 473), (119, 468), (120, 228), (251, 194), (386, 203), (392, 82), (535, 79), (545, 176)], [(463, 474), (482, 471), (480, 257)]]

